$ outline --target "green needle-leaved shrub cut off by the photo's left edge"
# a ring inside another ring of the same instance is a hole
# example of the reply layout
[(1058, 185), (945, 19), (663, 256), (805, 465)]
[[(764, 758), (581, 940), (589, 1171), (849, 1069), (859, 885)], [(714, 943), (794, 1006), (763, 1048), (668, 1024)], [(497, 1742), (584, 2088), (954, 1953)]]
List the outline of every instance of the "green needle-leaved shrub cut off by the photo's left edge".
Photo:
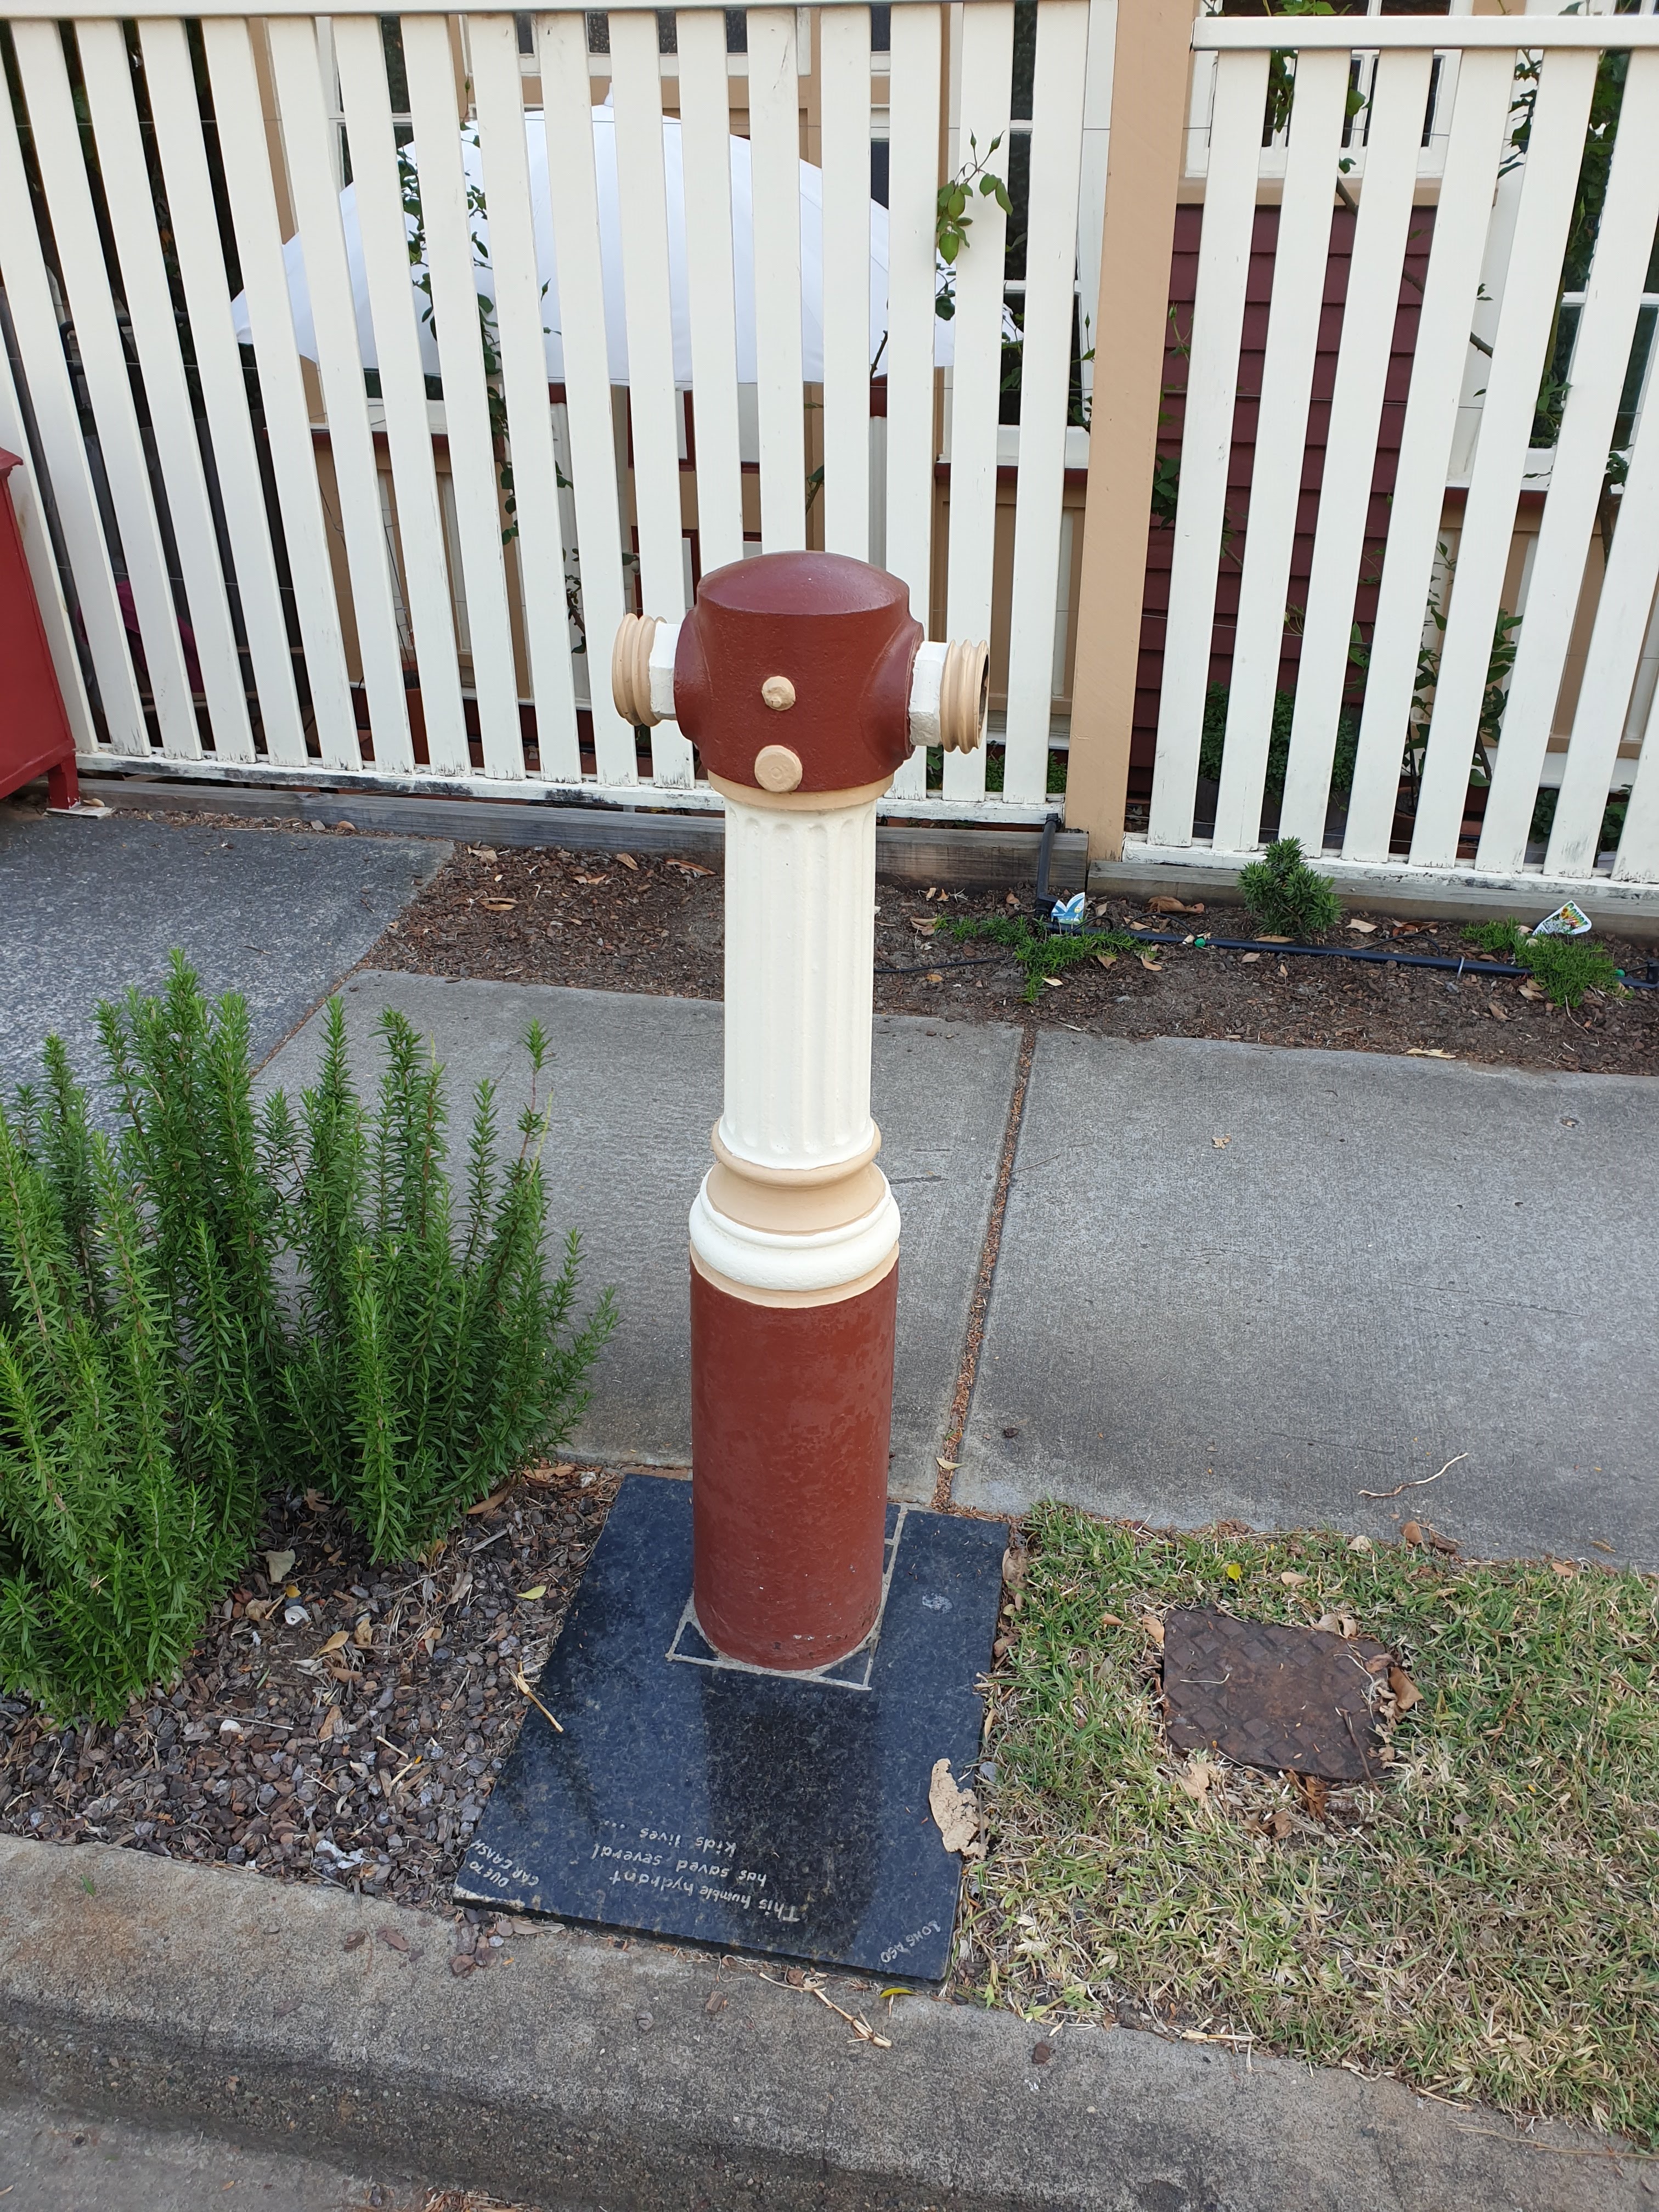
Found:
[(0, 1686), (117, 1721), (248, 1555), (279, 1338), (243, 1002), (175, 956), (102, 1022), (119, 1141), (55, 1037), (0, 1108)]

